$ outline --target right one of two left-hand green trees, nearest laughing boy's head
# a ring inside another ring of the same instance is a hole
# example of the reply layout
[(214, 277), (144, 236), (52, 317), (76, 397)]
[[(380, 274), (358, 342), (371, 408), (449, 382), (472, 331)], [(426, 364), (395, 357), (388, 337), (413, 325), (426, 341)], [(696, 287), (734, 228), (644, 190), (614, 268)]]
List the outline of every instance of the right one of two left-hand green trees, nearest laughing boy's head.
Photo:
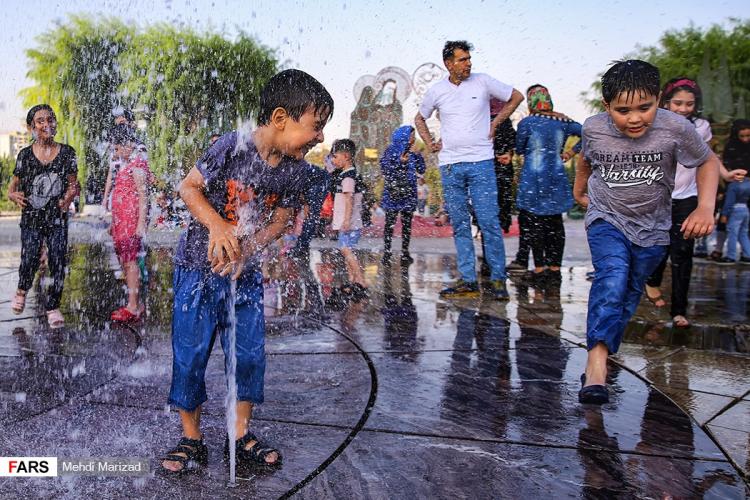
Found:
[(123, 92), (145, 112), (153, 170), (181, 176), (212, 132), (258, 110), (278, 70), (272, 50), (240, 33), (234, 41), (168, 25), (148, 28), (120, 58)]

